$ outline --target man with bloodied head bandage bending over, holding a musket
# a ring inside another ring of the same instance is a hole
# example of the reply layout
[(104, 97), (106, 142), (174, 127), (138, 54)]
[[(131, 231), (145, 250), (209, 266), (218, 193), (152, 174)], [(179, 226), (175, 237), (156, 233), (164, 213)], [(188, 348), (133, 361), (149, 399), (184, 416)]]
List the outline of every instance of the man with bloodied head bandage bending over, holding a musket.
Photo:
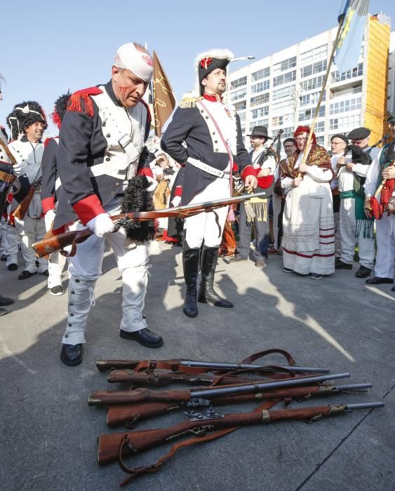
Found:
[(120, 212), (133, 176), (147, 176), (148, 191), (156, 187), (145, 147), (149, 109), (142, 101), (152, 71), (152, 58), (143, 46), (124, 44), (116, 52), (112, 79), (72, 94), (62, 121), (57, 155), (61, 186), (54, 230), (67, 225), (74, 230), (87, 226), (94, 232), (69, 258), (69, 311), (60, 353), (65, 365), (78, 365), (83, 358), (86, 321), (94, 304), (95, 283), (102, 274), (105, 238), (122, 273), (121, 337), (149, 348), (163, 344), (162, 337), (147, 328), (142, 312), (147, 242), (128, 241), (124, 229), (114, 231), (110, 218)]

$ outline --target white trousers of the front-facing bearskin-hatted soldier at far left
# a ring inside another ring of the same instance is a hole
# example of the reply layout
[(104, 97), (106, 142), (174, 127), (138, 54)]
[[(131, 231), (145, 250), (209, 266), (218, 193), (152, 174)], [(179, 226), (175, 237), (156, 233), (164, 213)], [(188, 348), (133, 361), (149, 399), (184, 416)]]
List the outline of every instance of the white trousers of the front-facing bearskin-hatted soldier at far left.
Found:
[[(32, 213), (33, 210), (33, 213)], [(22, 256), (25, 260), (25, 271), (35, 273), (37, 271), (36, 260), (39, 261), (39, 273), (48, 269), (48, 260), (44, 257), (36, 258), (32, 244), (42, 240), (46, 234), (46, 226), (43, 217), (34, 218), (39, 215), (41, 210), (41, 194), (35, 193), (29, 205), (29, 210), (23, 220), (15, 217), (15, 228), (20, 236)], [(33, 217), (33, 218), (32, 218)]]

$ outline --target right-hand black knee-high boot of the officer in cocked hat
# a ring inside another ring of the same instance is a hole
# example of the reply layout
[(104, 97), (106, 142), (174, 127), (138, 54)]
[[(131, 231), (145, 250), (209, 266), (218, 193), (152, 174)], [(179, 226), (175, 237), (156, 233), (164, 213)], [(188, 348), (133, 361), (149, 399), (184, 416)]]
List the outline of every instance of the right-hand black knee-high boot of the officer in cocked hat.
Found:
[(206, 247), (203, 245), (200, 265), (201, 283), (198, 301), (202, 304), (213, 304), (215, 307), (225, 307), (229, 309), (233, 307), (232, 302), (220, 297), (220, 295), (218, 295), (213, 288), (218, 253), (219, 250), (217, 247)]

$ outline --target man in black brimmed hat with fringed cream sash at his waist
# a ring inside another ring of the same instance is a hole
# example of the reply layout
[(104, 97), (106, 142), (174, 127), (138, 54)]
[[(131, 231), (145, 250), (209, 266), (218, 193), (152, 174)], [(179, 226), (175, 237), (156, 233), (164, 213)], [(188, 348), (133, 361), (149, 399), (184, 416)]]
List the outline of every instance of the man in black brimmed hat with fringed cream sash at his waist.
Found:
[(274, 171), (276, 170), (276, 159), (274, 152), (266, 152), (265, 149), (265, 143), (268, 140), (272, 140), (272, 137), (267, 134), (266, 126), (254, 126), (252, 133), (247, 136), (250, 137), (250, 145), (253, 147), (253, 151), (250, 152), (250, 158), (258, 180), (257, 190), (266, 190), (268, 196), (265, 198), (252, 197), (248, 203), (240, 204), (239, 242), (237, 243), (236, 255), (229, 261), (240, 262), (248, 260), (251, 229), (254, 226), (255, 248), (253, 255), (255, 266), (264, 268), (269, 247), (268, 204)]

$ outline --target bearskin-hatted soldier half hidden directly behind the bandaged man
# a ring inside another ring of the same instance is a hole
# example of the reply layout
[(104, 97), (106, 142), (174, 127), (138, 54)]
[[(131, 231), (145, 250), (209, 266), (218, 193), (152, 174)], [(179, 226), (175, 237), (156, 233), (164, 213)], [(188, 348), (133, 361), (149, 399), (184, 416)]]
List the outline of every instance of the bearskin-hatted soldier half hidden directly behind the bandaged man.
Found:
[[(60, 95), (55, 101), (55, 107), (51, 118), (53, 123), (60, 129), (63, 116), (67, 110), (67, 102), (69, 101), (70, 93)], [(56, 210), (56, 180), (58, 178), (58, 170), (56, 168), (56, 153), (58, 152), (59, 137), (47, 138), (44, 142), (43, 152), (43, 179), (41, 183), (41, 203), (45, 215), (46, 231), (51, 230), (53, 220), (55, 220)], [(60, 182), (59, 182), (60, 184)], [(51, 295), (63, 295), (62, 286), (62, 271), (65, 267), (66, 258), (59, 252), (53, 253), (48, 260), (48, 289)]]

